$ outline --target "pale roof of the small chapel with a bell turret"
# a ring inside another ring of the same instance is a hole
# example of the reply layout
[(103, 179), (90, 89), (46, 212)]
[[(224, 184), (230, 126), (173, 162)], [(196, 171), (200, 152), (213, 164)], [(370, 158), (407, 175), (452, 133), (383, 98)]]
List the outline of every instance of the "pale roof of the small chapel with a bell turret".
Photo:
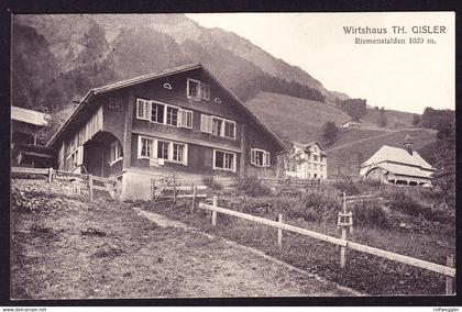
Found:
[(409, 174), (411, 171), (414, 172), (414, 169), (410, 169), (410, 167), (415, 167), (418, 170), (420, 170), (420, 168), (435, 170), (435, 168), (430, 164), (428, 164), (422, 157), (420, 157), (419, 153), (417, 153), (416, 151), (413, 151), (413, 155), (410, 155), (404, 148), (392, 147), (387, 145), (382, 146), (377, 152), (375, 152), (374, 155), (372, 155), (371, 158), (364, 161), (361, 165), (361, 167), (371, 165), (383, 166), (384, 163), (387, 161), (398, 163), (405, 166), (407, 165), (406, 168), (409, 168)]

